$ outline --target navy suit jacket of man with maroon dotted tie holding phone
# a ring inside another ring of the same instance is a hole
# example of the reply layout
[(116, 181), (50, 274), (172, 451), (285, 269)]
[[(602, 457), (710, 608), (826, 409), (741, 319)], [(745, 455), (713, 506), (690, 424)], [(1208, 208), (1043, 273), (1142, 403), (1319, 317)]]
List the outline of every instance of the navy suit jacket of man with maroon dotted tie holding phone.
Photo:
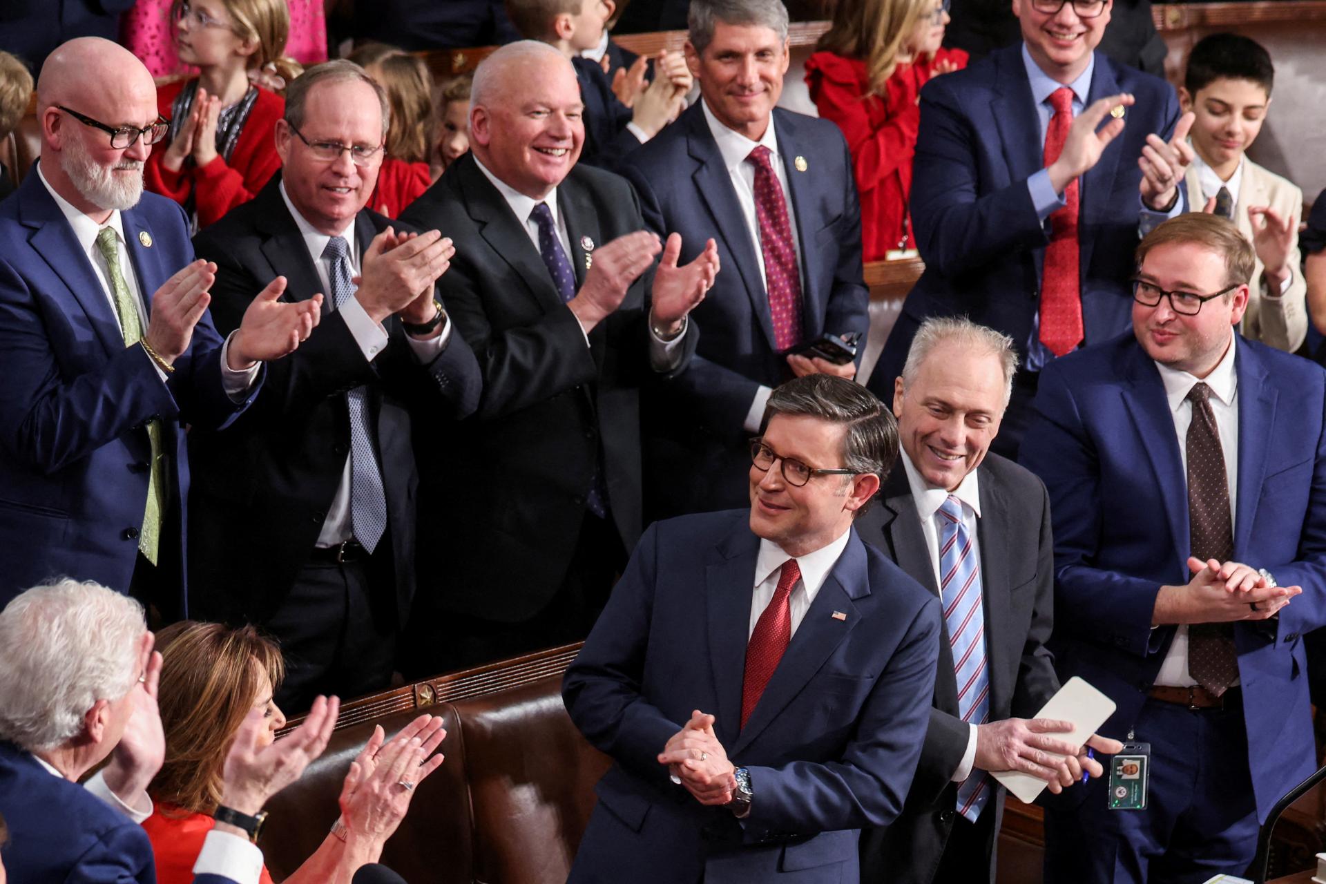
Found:
[[(861, 203), (847, 143), (829, 121), (781, 107), (773, 110), (773, 127), (800, 239), (802, 339), (854, 331), (865, 353), (870, 294), (862, 280)], [(804, 171), (796, 159), (806, 160)], [(646, 408), (658, 509), (676, 514), (745, 506), (747, 412), (761, 386), (777, 387), (792, 371), (774, 343), (758, 243), (700, 102), (631, 154), (621, 171), (640, 195), (646, 224), (662, 237), (682, 235), (682, 262), (713, 239), (721, 265), (691, 314), (704, 334), (690, 370)]]

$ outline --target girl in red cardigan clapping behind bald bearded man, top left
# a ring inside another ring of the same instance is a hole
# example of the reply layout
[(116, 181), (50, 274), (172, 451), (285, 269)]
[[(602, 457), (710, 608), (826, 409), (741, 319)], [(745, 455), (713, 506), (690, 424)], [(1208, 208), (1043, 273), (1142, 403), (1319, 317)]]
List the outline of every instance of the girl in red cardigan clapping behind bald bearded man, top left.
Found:
[[(281, 57), (285, 0), (175, 0), (179, 56), (199, 76), (156, 90), (170, 140), (149, 156), (147, 190), (190, 213), (195, 229), (253, 199), (281, 168), (273, 133), (285, 102), (273, 91), (298, 68)], [(263, 83), (263, 85), (259, 85)]]

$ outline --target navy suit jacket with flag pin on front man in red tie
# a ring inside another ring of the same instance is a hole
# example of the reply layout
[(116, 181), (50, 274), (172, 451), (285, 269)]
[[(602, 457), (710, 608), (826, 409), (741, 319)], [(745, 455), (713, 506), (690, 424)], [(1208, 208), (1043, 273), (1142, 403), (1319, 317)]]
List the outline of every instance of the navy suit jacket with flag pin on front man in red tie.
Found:
[[(902, 810), (935, 685), (939, 600), (855, 530), (745, 728), (741, 680), (760, 538), (749, 510), (652, 525), (566, 671), (572, 720), (617, 762), (570, 881), (858, 880), (857, 838)], [(846, 615), (839, 619), (837, 615)], [(656, 755), (691, 717), (748, 767), (739, 822), (668, 781)]]

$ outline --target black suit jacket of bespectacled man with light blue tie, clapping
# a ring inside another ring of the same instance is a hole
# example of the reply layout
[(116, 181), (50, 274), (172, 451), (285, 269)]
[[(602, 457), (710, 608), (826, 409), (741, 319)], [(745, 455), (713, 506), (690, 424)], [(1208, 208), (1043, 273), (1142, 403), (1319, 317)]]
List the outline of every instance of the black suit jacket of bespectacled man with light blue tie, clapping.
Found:
[[(322, 292), (304, 236), (281, 199), (280, 175), (251, 201), (194, 241), (199, 257), (215, 261), (212, 317), (223, 334), (239, 327), (244, 310), (276, 276), (288, 280), (286, 300)], [(377, 212), (355, 219), (361, 253), (389, 224)], [(385, 326), (390, 342), (373, 362), (332, 310), (300, 349), (268, 364), (268, 386), (248, 420), (227, 432), (191, 433), (198, 464), (191, 505), (191, 598), (203, 619), (261, 623), (280, 604), (308, 561), (341, 484), (350, 451), (346, 392), (366, 386), (377, 453), (387, 496), (395, 615), (403, 620), (414, 595), (415, 489), (410, 411), (463, 417), (479, 404), (479, 364), (452, 330), (446, 350), (422, 366), (396, 317)]]

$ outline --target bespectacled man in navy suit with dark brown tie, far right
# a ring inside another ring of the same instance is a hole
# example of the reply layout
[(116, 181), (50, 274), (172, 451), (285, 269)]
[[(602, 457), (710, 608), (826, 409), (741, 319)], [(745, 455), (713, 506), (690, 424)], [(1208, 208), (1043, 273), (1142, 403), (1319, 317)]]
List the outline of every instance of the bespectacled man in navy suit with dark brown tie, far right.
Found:
[(1241, 875), (1317, 766), (1326, 372), (1235, 334), (1253, 262), (1221, 217), (1166, 221), (1138, 247), (1132, 334), (1041, 378), (1022, 463), (1054, 513), (1059, 676), (1151, 753), (1146, 810), (1107, 808), (1103, 779), (1048, 808), (1048, 881)]

